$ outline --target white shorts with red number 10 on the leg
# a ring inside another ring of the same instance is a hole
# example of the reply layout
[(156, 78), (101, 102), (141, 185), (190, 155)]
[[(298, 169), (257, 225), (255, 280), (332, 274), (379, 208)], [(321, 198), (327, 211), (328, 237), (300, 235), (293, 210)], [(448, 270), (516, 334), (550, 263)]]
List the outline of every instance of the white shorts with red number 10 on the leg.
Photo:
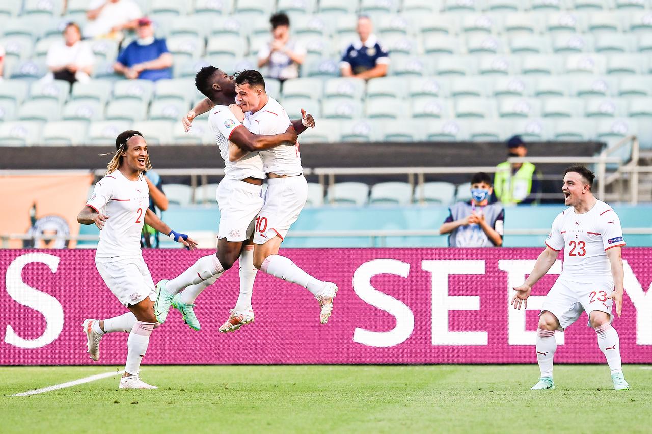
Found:
[(308, 182), (303, 175), (268, 178), (267, 184), (265, 205), (256, 218), (255, 244), (265, 244), (276, 235), (285, 239), (308, 199)]

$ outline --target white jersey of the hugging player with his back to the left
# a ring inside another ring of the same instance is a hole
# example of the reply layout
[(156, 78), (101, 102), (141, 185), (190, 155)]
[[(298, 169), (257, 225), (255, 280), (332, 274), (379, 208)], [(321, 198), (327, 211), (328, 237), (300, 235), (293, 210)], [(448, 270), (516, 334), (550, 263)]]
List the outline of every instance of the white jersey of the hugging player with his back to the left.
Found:
[[(260, 156), (247, 155), (242, 160), (229, 161), (229, 139), (235, 128), (242, 124), (231, 113), (229, 106), (215, 106), (208, 115), (208, 123), (215, 134), (215, 141), (220, 147), (220, 155), (224, 159), (224, 177), (230, 179), (244, 179), (254, 177), (266, 178), (263, 171), (263, 160)], [(287, 127), (286, 127), (287, 128)], [(283, 130), (285, 132), (285, 130)]]

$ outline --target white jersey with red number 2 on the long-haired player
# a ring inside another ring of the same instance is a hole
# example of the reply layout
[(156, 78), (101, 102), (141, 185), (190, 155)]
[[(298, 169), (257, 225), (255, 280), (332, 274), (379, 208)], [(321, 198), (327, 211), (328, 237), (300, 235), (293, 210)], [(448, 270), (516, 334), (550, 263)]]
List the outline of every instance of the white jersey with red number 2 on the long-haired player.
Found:
[(116, 257), (142, 254), (140, 233), (149, 208), (149, 186), (144, 175), (131, 181), (119, 170), (109, 173), (95, 184), (86, 205), (109, 217), (100, 231), (96, 261), (111, 262)]

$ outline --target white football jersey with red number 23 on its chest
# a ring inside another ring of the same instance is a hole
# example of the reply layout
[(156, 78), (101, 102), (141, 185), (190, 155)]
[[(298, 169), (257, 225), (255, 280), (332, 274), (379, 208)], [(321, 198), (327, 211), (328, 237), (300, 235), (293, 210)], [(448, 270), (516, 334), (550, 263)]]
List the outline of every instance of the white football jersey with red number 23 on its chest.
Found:
[(552, 223), (545, 242), (552, 250), (564, 250), (559, 277), (575, 282), (611, 279), (611, 264), (605, 252), (625, 246), (618, 215), (602, 201), (584, 214), (576, 214), (573, 207), (563, 210)]

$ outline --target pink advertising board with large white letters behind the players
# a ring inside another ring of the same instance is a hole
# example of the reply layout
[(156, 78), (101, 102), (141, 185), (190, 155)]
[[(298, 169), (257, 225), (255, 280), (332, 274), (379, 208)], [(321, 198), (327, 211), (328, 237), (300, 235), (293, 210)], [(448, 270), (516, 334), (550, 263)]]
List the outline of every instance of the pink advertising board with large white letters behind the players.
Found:
[[(170, 278), (209, 250), (145, 251), (155, 280)], [(291, 249), (306, 271), (338, 283), (333, 317), (318, 321), (308, 291), (258, 274), (256, 321), (220, 335), (238, 292), (226, 272), (198, 299), (200, 332), (178, 312), (153, 334), (147, 364), (535, 363), (537, 310), (561, 270), (557, 261), (527, 311), (509, 306), (541, 249)], [(93, 364), (82, 321), (125, 308), (104, 285), (93, 250), (0, 250), (0, 364)], [(652, 248), (626, 248), (623, 316), (614, 320), (625, 363), (652, 360)], [(236, 268), (237, 269), (237, 268)], [(587, 317), (557, 333), (558, 363), (603, 363)], [(125, 361), (126, 334), (106, 335), (101, 364)]]

